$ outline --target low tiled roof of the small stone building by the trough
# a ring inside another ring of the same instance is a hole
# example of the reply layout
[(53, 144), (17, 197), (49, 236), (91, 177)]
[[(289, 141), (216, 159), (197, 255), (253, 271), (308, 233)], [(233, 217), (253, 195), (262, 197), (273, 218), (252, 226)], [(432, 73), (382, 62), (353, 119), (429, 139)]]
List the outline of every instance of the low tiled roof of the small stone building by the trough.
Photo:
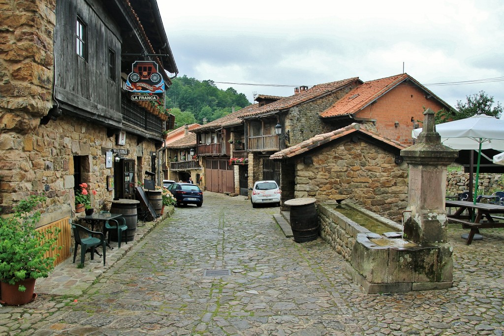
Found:
[(396, 147), (399, 150), (406, 148), (406, 146), (400, 144), (397, 141), (383, 138), (378, 133), (370, 131), (363, 124), (353, 123), (353, 124), (348, 125), (346, 127), (333, 130), (332, 132), (320, 134), (318, 136), (314, 136), (313, 138), (305, 140), (302, 143), (299, 143), (295, 146), (291, 146), (291, 147), (286, 148), (280, 152), (276, 152), (275, 154), (270, 156), (270, 159), (291, 158), (293, 156), (302, 154), (304, 152), (310, 151), (314, 148), (317, 148), (319, 146), (327, 144), (328, 142), (331, 142), (335, 139), (349, 135), (350, 133), (353, 133), (353, 132), (364, 133), (367, 136), (370, 136), (376, 140), (384, 142), (392, 147)]

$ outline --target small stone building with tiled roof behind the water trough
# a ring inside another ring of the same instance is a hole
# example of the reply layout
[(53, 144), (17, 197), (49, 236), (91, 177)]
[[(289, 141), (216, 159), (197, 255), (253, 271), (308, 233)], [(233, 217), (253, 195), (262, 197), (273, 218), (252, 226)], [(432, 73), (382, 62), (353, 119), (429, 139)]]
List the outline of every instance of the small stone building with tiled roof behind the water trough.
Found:
[(281, 163), (282, 201), (350, 199), (369, 211), (401, 221), (408, 201), (405, 146), (372, 126), (351, 124), (273, 154)]

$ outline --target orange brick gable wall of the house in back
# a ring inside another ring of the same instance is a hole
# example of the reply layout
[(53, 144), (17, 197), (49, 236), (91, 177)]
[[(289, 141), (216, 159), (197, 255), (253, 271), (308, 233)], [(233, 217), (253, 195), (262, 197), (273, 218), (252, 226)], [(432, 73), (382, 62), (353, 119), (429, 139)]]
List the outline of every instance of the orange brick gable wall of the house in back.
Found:
[[(358, 112), (356, 117), (376, 119), (376, 128), (382, 137), (412, 145), (413, 124), (417, 120), (423, 120), (423, 107), (434, 112), (443, 108), (434, 99), (425, 98), (425, 92), (414, 87), (411, 82), (406, 82), (378, 98), (376, 103)], [(395, 121), (399, 122), (397, 127)], [(419, 127), (422, 127), (421, 123)]]

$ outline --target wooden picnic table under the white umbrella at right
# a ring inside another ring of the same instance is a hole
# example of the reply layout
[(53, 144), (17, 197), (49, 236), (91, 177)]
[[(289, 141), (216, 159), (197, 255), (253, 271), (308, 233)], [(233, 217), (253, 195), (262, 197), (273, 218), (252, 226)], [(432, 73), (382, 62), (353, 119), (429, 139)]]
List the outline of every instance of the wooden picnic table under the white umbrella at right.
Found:
[[(447, 207), (457, 208), (455, 214), (448, 216), (448, 220), (461, 223), (462, 227), (471, 229), (467, 237), (467, 245), (471, 244), (475, 234), (479, 234), (479, 229), (504, 228), (504, 222), (495, 221), (502, 219), (502, 217), (492, 217), (492, 214), (504, 214), (504, 206), (486, 203), (474, 204), (466, 200), (446, 200), (445, 202)], [(463, 215), (466, 210), (469, 214), (468, 216)], [(474, 222), (471, 222), (471, 218), (473, 218), (475, 212), (476, 218)], [(485, 221), (482, 221), (483, 217), (486, 218)]]

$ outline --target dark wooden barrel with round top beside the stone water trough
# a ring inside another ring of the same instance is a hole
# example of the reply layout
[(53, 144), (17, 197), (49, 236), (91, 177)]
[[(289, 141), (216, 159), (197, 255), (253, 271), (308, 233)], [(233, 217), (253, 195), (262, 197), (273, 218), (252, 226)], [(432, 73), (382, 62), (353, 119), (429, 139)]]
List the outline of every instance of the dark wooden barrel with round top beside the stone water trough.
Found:
[(309, 197), (285, 201), (284, 204), (290, 206), (290, 226), (295, 242), (302, 243), (319, 236), (316, 201), (317, 199)]

